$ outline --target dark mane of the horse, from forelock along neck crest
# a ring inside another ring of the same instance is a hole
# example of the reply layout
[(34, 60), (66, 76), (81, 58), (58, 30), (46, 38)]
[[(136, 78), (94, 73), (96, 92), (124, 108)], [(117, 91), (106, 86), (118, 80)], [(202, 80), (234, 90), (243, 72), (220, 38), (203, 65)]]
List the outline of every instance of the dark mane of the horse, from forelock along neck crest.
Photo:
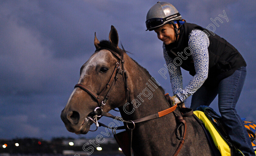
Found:
[[(108, 48), (113, 50), (114, 52), (118, 53), (119, 55), (123, 54), (123, 53), (129, 53), (127, 52), (124, 48), (123, 45), (121, 44), (123, 49), (120, 49), (116, 46), (113, 46), (108, 40), (101, 40), (100, 43), (98, 43), (98, 46), (100, 46), (101, 48)], [(132, 58), (131, 58), (132, 59)], [(146, 70), (143, 66), (140, 66), (139, 63), (137, 63), (137, 61), (135, 61), (134, 59), (132, 59), (139, 67), (141, 70), (143, 70), (149, 77), (152, 77), (150, 75), (150, 73), (148, 72), (148, 70)], [(163, 94), (165, 94), (165, 90), (163, 89), (162, 86), (158, 86), (160, 88), (160, 90), (163, 92)]]

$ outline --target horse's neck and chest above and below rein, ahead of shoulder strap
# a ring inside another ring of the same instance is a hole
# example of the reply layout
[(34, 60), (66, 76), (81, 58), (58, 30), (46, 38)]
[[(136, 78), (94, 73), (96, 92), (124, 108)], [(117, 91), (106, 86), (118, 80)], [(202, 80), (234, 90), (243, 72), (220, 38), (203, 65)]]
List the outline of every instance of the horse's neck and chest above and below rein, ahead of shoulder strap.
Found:
[[(125, 109), (130, 112), (134, 109), (134, 111), (131, 114), (127, 114), (123, 110), (123, 107), (119, 107), (123, 119), (136, 120), (168, 109), (169, 104), (165, 99), (163, 90), (151, 78), (150, 74), (132, 59), (126, 59), (125, 63), (126, 65), (128, 64), (125, 70), (128, 74), (128, 86), (130, 90), (129, 104), (126, 105)], [(149, 96), (148, 93), (152, 95)], [(164, 115), (161, 118), (135, 124), (132, 136), (134, 155), (159, 155), (159, 153), (164, 155), (166, 153), (173, 153), (179, 143), (175, 135), (170, 135), (171, 133), (174, 134), (175, 128), (176, 120), (172, 113)], [(156, 134), (156, 131), (158, 134)], [(172, 145), (170, 146), (169, 143), (172, 143)], [(168, 147), (167, 151), (162, 151), (162, 145)]]

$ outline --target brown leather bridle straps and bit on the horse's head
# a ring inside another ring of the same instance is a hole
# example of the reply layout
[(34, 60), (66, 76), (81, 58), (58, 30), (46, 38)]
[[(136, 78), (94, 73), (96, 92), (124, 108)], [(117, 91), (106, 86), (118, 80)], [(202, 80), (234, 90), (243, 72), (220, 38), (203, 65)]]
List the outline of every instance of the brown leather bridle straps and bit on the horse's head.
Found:
[[(116, 56), (118, 58), (118, 61), (117, 61), (116, 65), (115, 65), (115, 68), (114, 68), (114, 70), (112, 72), (112, 75), (111, 75), (108, 83), (106, 84), (105, 88), (101, 91), (101, 93), (99, 93), (97, 95), (90, 88), (88, 88), (87, 86), (84, 86), (81, 83), (78, 83), (78, 84), (75, 85), (75, 88), (79, 87), (82, 90), (86, 91), (87, 93), (89, 93), (98, 102), (98, 107), (96, 107), (94, 109), (94, 111), (93, 111), (94, 119), (91, 119), (90, 117), (87, 116), (90, 120), (92, 120), (97, 125), (97, 128), (99, 126), (98, 121), (97, 121), (97, 117), (101, 116), (102, 108), (105, 106), (105, 103), (107, 102), (107, 100), (109, 98), (109, 93), (113, 89), (113, 86), (115, 85), (115, 82), (118, 81), (118, 76), (119, 75), (123, 75), (123, 79), (124, 79), (124, 87), (125, 87), (125, 92), (126, 92), (125, 103), (129, 99), (129, 93), (128, 93), (129, 89), (128, 89), (128, 84), (127, 84), (128, 76), (127, 76), (127, 73), (126, 73), (126, 71), (124, 69), (123, 53), (118, 55), (116, 52), (114, 52), (113, 50), (111, 50), (109, 48), (99, 48), (99, 49), (96, 49), (95, 53), (97, 51), (99, 51), (99, 50), (102, 50), (102, 49), (106, 49), (106, 50), (110, 51), (114, 56)], [(122, 66), (123, 70), (122, 70), (121, 66)], [(105, 94), (105, 96), (103, 96), (103, 94), (106, 92), (107, 89), (108, 89), (108, 92)], [(118, 110), (116, 110), (116, 111), (118, 111)], [(96, 122), (94, 120), (96, 120)], [(94, 130), (94, 131), (96, 131), (96, 130)]]

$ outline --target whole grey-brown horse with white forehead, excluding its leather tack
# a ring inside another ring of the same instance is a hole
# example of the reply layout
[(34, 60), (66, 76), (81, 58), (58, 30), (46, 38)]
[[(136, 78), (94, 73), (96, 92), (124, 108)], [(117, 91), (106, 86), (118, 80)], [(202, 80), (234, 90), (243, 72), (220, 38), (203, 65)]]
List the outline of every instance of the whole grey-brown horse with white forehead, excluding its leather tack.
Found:
[[(106, 94), (108, 100), (102, 102), (102, 111), (119, 108), (123, 120), (127, 121), (146, 117), (170, 107), (162, 87), (153, 81), (145, 68), (118, 47), (118, 40), (118, 33), (113, 26), (109, 41), (99, 42), (95, 35), (94, 45), (100, 50), (81, 67), (78, 81), (90, 91), (85, 92), (81, 87), (76, 87), (61, 113), (61, 119), (68, 131), (87, 134), (91, 124), (95, 122), (90, 114), (96, 107), (100, 107), (99, 101), (103, 101)], [(110, 82), (120, 56), (123, 59), (120, 69), (124, 70), (125, 67), (128, 78), (119, 76), (118, 81), (114, 80), (113, 87), (109, 87), (106, 84)], [(126, 85), (129, 91), (126, 90)], [(133, 154), (173, 155), (180, 144), (175, 135), (176, 114), (181, 115), (179, 109), (162, 117), (135, 124), (132, 137)], [(214, 155), (202, 127), (192, 116), (186, 117), (185, 120), (187, 134), (179, 155)]]

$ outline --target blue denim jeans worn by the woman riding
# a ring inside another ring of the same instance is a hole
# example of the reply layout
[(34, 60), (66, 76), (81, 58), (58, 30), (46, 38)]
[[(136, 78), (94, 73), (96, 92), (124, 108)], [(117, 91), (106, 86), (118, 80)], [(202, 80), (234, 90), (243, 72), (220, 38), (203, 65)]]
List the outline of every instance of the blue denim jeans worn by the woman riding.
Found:
[(225, 128), (236, 148), (244, 155), (254, 155), (251, 140), (244, 123), (236, 113), (236, 103), (244, 86), (246, 67), (238, 68), (231, 76), (220, 81), (215, 88), (202, 85), (192, 96), (193, 110), (204, 105), (209, 106), (218, 94), (218, 106)]

